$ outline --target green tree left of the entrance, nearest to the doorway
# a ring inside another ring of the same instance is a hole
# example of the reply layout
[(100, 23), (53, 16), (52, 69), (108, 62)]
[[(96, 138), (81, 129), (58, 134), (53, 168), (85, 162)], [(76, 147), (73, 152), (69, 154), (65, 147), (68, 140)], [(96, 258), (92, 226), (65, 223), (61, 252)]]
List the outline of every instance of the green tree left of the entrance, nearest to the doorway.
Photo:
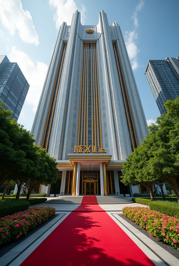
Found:
[(30, 194), (36, 186), (40, 184), (47, 186), (48, 184), (55, 183), (58, 178), (56, 159), (36, 144), (34, 144), (34, 150), (38, 159), (34, 162), (34, 171), (28, 174), (25, 181), (28, 189), (27, 200), (29, 200)]

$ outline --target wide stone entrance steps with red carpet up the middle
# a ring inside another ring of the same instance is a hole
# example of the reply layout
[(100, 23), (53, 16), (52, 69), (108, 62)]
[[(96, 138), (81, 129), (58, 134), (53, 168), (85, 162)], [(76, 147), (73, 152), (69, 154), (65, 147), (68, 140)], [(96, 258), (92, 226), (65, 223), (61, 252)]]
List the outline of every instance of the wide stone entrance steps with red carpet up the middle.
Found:
[[(96, 201), (97, 199), (97, 201)], [(133, 201), (121, 196), (59, 196), (46, 203), (52, 204), (130, 204)]]

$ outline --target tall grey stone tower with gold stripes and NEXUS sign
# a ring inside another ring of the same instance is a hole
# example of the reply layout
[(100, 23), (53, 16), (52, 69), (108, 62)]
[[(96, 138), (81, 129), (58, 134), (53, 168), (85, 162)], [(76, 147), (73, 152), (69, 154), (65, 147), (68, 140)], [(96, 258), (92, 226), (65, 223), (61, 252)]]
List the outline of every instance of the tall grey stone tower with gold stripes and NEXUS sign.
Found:
[(123, 162), (147, 135), (147, 123), (121, 29), (99, 13), (83, 26), (80, 12), (62, 23), (32, 133), (57, 159), (59, 180), (47, 195), (139, 192), (119, 184)]

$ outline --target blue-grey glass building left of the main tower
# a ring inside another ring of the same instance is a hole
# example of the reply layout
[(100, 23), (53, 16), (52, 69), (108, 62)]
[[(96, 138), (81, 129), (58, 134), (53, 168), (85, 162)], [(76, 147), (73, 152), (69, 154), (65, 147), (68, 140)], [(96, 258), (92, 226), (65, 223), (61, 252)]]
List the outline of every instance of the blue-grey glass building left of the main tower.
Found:
[(29, 84), (17, 63), (11, 63), (6, 55), (0, 55), (0, 101), (4, 109), (10, 109), (12, 117), (19, 118)]

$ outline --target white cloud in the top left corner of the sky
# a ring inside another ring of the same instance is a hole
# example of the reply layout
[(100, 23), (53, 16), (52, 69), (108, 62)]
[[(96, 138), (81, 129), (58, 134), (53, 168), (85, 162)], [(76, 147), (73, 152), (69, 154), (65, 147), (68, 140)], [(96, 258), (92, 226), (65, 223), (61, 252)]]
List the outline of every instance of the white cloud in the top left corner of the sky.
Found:
[(0, 19), (11, 35), (18, 30), (23, 41), (39, 44), (39, 36), (35, 31), (30, 12), (23, 9), (21, 0), (0, 0)]

